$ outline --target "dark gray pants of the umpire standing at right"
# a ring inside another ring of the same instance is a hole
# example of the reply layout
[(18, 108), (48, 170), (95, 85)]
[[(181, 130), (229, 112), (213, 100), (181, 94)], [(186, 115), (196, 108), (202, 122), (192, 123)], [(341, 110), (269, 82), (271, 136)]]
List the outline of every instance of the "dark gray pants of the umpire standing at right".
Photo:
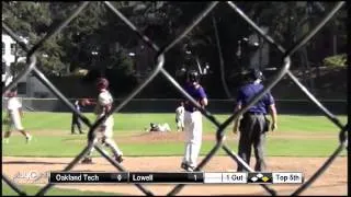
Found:
[[(239, 157), (250, 165), (251, 147), (253, 146), (256, 166), (254, 171), (265, 170), (264, 142), (265, 142), (265, 118), (264, 115), (245, 114), (240, 120)], [(238, 163), (238, 172), (246, 171)]]

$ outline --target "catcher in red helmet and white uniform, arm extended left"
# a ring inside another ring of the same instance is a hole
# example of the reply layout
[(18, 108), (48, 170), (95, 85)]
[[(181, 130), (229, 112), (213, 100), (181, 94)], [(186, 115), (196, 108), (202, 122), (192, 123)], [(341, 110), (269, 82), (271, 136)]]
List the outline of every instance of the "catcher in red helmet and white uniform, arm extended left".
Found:
[[(89, 100), (83, 100), (83, 105), (95, 104), (94, 114), (97, 115), (97, 119), (103, 117), (106, 113), (109, 113), (112, 108), (113, 97), (109, 92), (109, 81), (105, 78), (98, 79), (98, 102), (93, 103)], [(113, 116), (110, 115), (105, 121), (103, 121), (100, 127), (98, 127), (98, 136), (95, 140), (100, 141), (102, 144), (109, 147), (114, 154), (114, 159), (116, 162), (121, 163), (123, 161), (123, 153), (118, 149), (117, 144), (114, 142), (113, 136)], [(88, 155), (82, 160), (82, 163), (92, 163), (91, 153), (94, 148), (90, 149)]]

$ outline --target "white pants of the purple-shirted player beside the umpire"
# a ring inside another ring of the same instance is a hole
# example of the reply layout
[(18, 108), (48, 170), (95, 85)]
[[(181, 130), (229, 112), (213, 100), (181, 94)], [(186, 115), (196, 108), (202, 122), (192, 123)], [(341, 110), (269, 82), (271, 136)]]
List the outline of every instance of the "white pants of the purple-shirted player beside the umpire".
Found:
[(202, 114), (201, 112), (186, 112), (184, 114), (185, 152), (183, 163), (192, 167), (197, 165), (197, 157), (202, 142)]

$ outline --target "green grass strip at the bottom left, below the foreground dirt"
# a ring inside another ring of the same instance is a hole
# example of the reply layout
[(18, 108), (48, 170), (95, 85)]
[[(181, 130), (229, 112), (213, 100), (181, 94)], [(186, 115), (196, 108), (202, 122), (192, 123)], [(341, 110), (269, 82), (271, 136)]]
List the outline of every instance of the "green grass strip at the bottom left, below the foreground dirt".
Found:
[[(2, 182), (1, 186), (2, 196), (19, 196), (18, 193), (12, 190), (8, 184)], [(27, 196), (34, 196), (41, 189), (39, 186), (34, 185), (21, 185), (21, 190), (25, 190)], [(49, 189), (45, 196), (123, 196), (121, 194), (115, 193), (102, 193), (102, 192), (82, 192), (78, 189), (63, 189), (63, 188), (52, 188)]]

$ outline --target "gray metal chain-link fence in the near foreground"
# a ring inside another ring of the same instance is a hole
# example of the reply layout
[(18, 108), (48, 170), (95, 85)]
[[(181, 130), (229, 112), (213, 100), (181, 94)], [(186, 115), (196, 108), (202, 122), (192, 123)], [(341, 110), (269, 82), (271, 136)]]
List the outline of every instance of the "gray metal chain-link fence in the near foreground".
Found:
[[(199, 104), (194, 101), (193, 97), (191, 97), (182, 88), (181, 85), (174, 80), (169, 72), (165, 69), (165, 54), (169, 51), (176, 44), (178, 44), (186, 34), (189, 34), (201, 21), (203, 21), (213, 10), (218, 5), (219, 2), (210, 2), (206, 8), (196, 15), (193, 21), (186, 26), (183, 32), (174, 37), (174, 39), (162, 46), (157, 46), (152, 40), (150, 40), (146, 35), (144, 35), (118, 9), (116, 9), (114, 5), (111, 4), (109, 1), (104, 1), (103, 3), (117, 16), (120, 18), (131, 30), (133, 30), (140, 39), (143, 39), (148, 46), (150, 46), (155, 51), (157, 51), (157, 63), (150, 76), (140, 84), (138, 85), (126, 99), (121, 102), (118, 105), (114, 106), (113, 109), (97, 120), (95, 123), (90, 123), (90, 120), (82, 115), (81, 113), (77, 112), (72, 104), (68, 101), (68, 99), (63, 95), (59, 90), (56, 89), (55, 85), (46, 78), (45, 74), (36, 67), (36, 53), (38, 49), (43, 46), (43, 44), (47, 40), (53, 38), (57, 33), (59, 33), (64, 27), (66, 27), (75, 18), (79, 15), (79, 13), (82, 12), (87, 8), (89, 3), (95, 3), (95, 2), (81, 2), (79, 7), (71, 13), (69, 16), (64, 20), (59, 25), (57, 25), (52, 32), (46, 34), (46, 36), (41, 39), (36, 45), (34, 45), (32, 48), (29, 48), (26, 44), (24, 44), (21, 38), (11, 30), (10, 26), (4, 24), (2, 22), (2, 30), (7, 32), (14, 40), (16, 40), (21, 48), (26, 51), (26, 68), (19, 73), (15, 79), (5, 88), (2, 89), (2, 94), (4, 94), (8, 90), (13, 88), (16, 82), (19, 82), (22, 78), (26, 77), (30, 72), (32, 72), (43, 84), (45, 84), (53, 93), (61, 100), (67, 107), (69, 107), (72, 112), (78, 114), (78, 116), (81, 118), (81, 120), (90, 128), (88, 134), (88, 144), (83, 148), (83, 150), (63, 170), (63, 171), (69, 171), (75, 165), (78, 164), (78, 162), (88, 153), (90, 149), (93, 147), (98, 150), (99, 153), (101, 153), (112, 165), (114, 165), (117, 170), (125, 172), (127, 169), (125, 169), (123, 165), (118, 164), (114, 160), (112, 160), (104, 151), (102, 151), (101, 147), (99, 144), (93, 143), (93, 139), (95, 138), (95, 128), (106, 119), (109, 115), (112, 113), (121, 111), (131, 100), (138, 94), (147, 84), (152, 81), (152, 79), (157, 74), (163, 74), (163, 77), (168, 80), (168, 82), (172, 83), (177, 88), (178, 91), (180, 91), (186, 99), (189, 99), (195, 106), (201, 111), (201, 113), (208, 118), (216, 127), (216, 144), (212, 148), (212, 150), (206, 154), (206, 157), (200, 162), (200, 164), (196, 166), (195, 171), (202, 170), (210, 160), (213, 159), (215, 153), (222, 148), (233, 160), (244, 165), (244, 167), (249, 171), (253, 172), (253, 170), (245, 163), (235, 152), (230, 150), (226, 144), (224, 144), (224, 137), (225, 137), (225, 128), (229, 126), (229, 124), (239, 118), (240, 115), (242, 115), (250, 106), (252, 106), (256, 102), (258, 102), (267, 92), (269, 92), (280, 80), (287, 74), (291, 80), (306, 94), (306, 96), (318, 106), (318, 108), (324, 113), (326, 117), (329, 118), (330, 121), (332, 121), (338, 129), (340, 129), (339, 132), (339, 146), (335, 150), (335, 152), (329, 157), (329, 159), (314, 173), (314, 175), (307, 179), (303, 185), (301, 185), (295, 192), (292, 193), (292, 195), (299, 195), (303, 190), (305, 190), (307, 187), (310, 186), (313, 182), (315, 182), (325, 170), (328, 169), (328, 166), (331, 165), (333, 160), (338, 157), (338, 154), (347, 147), (348, 140), (348, 129), (349, 125), (342, 125), (341, 121), (332, 114), (330, 113), (298, 80), (297, 78), (290, 71), (291, 66), (291, 56), (294, 54), (298, 48), (304, 46), (327, 22), (329, 22), (332, 16), (342, 8), (342, 5), (346, 4), (344, 1), (337, 2), (333, 9), (326, 14), (326, 16), (316, 25), (309, 33), (303, 36), (303, 38), (298, 42), (296, 42), (293, 46), (290, 46), (290, 48), (285, 49), (283, 46), (281, 46), (279, 43), (276, 43), (271, 36), (267, 35), (245, 12), (242, 12), (236, 3), (228, 1), (228, 2), (220, 2), (226, 3), (228, 7), (230, 7), (239, 18), (245, 20), (260, 36), (265, 39), (269, 44), (278, 48), (282, 53), (282, 67), (279, 71), (276, 71), (275, 76), (272, 78), (272, 80), (267, 84), (267, 86), (258, 93), (246, 107), (241, 108), (239, 112), (236, 112), (233, 114), (226, 121), (220, 124), (214, 115), (212, 115), (208, 111), (201, 108)], [(10, 178), (2, 173), (2, 179), (18, 194), (20, 195), (26, 195), (24, 190), (22, 190), (19, 185), (10, 181)], [(45, 195), (48, 189), (50, 189), (55, 184), (48, 183), (45, 185), (36, 195)], [(135, 184), (136, 187), (138, 187), (145, 195), (154, 195), (149, 189), (145, 188), (141, 184)], [(171, 189), (168, 195), (176, 195), (178, 194), (185, 185), (180, 184), (177, 185), (173, 189)], [(270, 195), (276, 195), (276, 192), (271, 188), (268, 185), (260, 185), (262, 186)]]

